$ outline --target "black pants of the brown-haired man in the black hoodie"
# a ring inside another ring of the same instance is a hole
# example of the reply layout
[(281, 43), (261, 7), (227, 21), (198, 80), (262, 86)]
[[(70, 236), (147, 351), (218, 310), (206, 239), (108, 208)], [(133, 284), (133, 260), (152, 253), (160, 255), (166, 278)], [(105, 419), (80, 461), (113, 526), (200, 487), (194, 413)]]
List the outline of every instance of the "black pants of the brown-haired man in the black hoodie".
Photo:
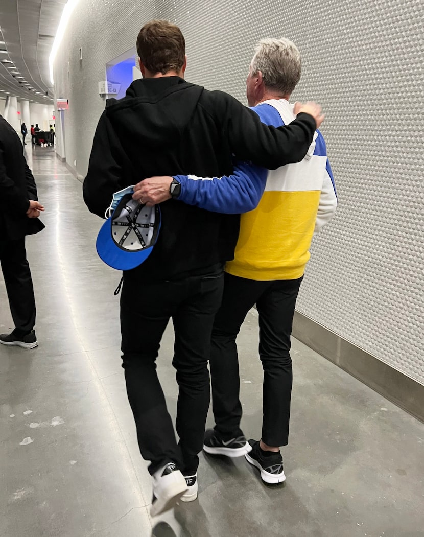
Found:
[[(124, 277), (121, 295), (122, 367), (143, 459), (153, 474), (173, 461), (195, 473), (210, 402), (210, 337), (220, 307), (223, 272), (181, 281), (143, 284)], [(176, 429), (156, 373), (160, 339), (170, 318), (175, 343), (172, 365), (179, 387)]]

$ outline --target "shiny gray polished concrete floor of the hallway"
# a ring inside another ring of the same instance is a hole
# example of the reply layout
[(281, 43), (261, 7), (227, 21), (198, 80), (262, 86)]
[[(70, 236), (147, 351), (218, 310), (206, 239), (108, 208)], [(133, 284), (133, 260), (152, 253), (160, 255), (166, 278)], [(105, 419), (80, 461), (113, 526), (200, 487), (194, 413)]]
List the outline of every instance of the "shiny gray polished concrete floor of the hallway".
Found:
[[(294, 340), (287, 482), (267, 488), (244, 459), (201, 456), (199, 499), (149, 517), (120, 367), (120, 276), (100, 262), (100, 220), (51, 148), (26, 146), (46, 206), (28, 237), (38, 349), (0, 348), (2, 537), (418, 537), (424, 425)], [(0, 332), (12, 327), (0, 276)], [(243, 427), (258, 438), (261, 367), (253, 311), (239, 337)], [(158, 372), (174, 413), (172, 329)], [(209, 417), (209, 423), (211, 419)]]

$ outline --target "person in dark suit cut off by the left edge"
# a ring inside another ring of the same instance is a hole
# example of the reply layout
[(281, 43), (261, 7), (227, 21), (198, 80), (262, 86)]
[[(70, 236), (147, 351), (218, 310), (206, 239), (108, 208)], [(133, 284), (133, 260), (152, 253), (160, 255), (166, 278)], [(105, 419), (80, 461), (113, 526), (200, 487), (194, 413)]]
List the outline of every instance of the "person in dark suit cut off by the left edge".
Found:
[(33, 349), (35, 299), (30, 266), (26, 259), (25, 236), (38, 233), (44, 207), (38, 202), (31, 170), (25, 161), (19, 137), (0, 116), (0, 263), (15, 328), (0, 334), (0, 344)]

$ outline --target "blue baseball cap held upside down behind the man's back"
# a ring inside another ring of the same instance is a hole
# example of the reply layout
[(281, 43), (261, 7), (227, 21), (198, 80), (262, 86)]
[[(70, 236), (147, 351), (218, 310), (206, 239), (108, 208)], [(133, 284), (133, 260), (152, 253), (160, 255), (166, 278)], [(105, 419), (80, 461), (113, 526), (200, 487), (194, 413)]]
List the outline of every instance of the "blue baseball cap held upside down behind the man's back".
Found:
[(97, 235), (100, 259), (116, 270), (135, 269), (150, 256), (159, 235), (160, 221), (158, 205), (141, 205), (131, 194), (126, 194)]

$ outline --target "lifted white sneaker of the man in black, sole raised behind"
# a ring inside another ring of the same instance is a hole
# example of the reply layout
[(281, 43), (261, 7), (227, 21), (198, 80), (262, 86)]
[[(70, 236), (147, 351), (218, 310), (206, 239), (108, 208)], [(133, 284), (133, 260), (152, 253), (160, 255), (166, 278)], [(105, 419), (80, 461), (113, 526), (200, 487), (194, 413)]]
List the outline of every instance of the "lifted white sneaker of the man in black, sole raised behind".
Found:
[(188, 487), (184, 475), (173, 462), (167, 463), (152, 477), (153, 500), (150, 514), (152, 517), (156, 517), (158, 514), (172, 509)]

